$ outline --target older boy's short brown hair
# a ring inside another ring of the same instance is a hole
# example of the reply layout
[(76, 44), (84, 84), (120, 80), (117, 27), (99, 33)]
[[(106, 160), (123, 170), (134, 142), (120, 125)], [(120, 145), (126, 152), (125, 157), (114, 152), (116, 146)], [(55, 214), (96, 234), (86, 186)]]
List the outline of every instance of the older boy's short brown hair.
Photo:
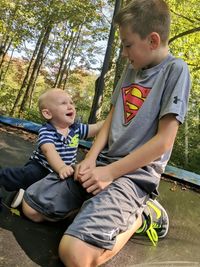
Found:
[(163, 0), (133, 0), (114, 19), (119, 26), (130, 26), (143, 39), (151, 32), (160, 35), (166, 44), (170, 32), (170, 11)]

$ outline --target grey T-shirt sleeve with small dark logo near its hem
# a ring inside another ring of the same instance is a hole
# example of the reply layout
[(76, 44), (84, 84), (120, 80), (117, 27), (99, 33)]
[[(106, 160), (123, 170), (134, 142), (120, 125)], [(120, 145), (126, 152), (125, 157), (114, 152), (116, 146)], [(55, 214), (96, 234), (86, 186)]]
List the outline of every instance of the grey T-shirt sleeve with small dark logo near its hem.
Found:
[(184, 122), (190, 86), (190, 74), (187, 64), (181, 59), (176, 59), (166, 81), (159, 118), (172, 113), (176, 115), (176, 119), (180, 123)]

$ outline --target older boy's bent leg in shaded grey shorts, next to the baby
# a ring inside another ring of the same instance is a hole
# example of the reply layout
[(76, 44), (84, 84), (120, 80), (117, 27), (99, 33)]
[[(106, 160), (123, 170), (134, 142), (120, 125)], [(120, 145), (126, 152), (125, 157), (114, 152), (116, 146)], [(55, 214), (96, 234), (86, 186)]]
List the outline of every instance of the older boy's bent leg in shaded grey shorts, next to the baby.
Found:
[(58, 221), (79, 209), (88, 197), (73, 177), (60, 180), (57, 174), (50, 173), (25, 191), (22, 209), (35, 222)]

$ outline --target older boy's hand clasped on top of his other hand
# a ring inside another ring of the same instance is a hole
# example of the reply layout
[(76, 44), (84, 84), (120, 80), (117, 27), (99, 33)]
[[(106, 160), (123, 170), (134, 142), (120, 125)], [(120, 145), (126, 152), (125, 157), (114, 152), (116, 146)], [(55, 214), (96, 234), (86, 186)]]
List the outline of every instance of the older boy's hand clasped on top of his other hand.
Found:
[(79, 178), (79, 182), (86, 189), (88, 193), (93, 195), (98, 194), (105, 187), (111, 184), (113, 178), (109, 173), (107, 166), (96, 167), (92, 170), (88, 170)]

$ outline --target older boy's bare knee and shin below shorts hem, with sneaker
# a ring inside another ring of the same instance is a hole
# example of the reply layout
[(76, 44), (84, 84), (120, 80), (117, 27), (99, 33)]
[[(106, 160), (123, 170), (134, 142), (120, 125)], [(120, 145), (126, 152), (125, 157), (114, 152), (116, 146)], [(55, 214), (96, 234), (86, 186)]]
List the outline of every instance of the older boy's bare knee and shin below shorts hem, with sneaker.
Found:
[[(156, 200), (149, 199), (147, 201), (147, 207), (145, 207), (143, 214), (145, 214), (144, 217), (147, 220), (147, 225), (153, 224), (156, 226), (155, 229), (158, 231), (158, 237), (159, 234), (161, 238), (166, 236), (169, 227), (168, 215), (164, 208)], [(134, 235), (134, 233), (136, 233), (136, 231), (142, 226), (142, 223), (144, 223), (142, 216), (139, 216), (127, 231), (116, 237), (116, 243), (112, 250), (101, 249), (73, 236), (64, 235), (59, 246), (59, 255), (62, 262), (65, 266), (77, 267), (99, 266), (106, 263), (124, 247), (132, 235)], [(80, 252), (78, 254), (74, 253), (77, 249), (79, 249)]]

